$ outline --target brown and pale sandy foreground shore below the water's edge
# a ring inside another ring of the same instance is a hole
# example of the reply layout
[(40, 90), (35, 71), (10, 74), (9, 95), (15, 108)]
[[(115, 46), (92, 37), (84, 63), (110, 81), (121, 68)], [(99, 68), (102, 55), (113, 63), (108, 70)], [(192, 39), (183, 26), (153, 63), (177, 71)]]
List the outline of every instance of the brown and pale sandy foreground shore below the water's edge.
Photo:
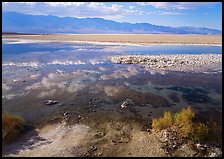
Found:
[[(31, 130), (13, 145), (3, 147), (3, 156), (36, 157), (202, 157), (220, 155), (217, 146), (201, 145), (206, 152), (184, 143), (167, 151), (160, 134), (148, 130), (141, 119), (114, 119), (109, 115), (85, 116), (68, 121), (70, 115)], [(60, 122), (59, 122), (60, 121)], [(162, 135), (162, 134), (161, 134)]]

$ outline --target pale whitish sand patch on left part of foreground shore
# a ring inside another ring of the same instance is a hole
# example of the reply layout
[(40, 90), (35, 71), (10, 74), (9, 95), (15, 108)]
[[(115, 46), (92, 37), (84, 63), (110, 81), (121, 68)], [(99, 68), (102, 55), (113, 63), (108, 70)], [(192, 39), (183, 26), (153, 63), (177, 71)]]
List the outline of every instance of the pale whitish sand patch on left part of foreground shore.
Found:
[[(85, 125), (68, 126), (65, 123), (48, 125), (31, 131), (13, 145), (5, 146), (6, 156), (41, 157), (41, 156), (79, 156), (74, 147), (85, 143), (89, 127)], [(4, 150), (3, 150), (4, 152)]]

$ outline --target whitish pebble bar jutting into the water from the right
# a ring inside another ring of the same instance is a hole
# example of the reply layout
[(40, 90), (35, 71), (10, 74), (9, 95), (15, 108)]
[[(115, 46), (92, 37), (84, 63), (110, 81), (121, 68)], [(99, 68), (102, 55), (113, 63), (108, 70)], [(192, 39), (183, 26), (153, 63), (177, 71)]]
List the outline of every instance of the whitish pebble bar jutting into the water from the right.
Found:
[(112, 63), (141, 64), (148, 68), (185, 71), (194, 67), (222, 62), (221, 54), (175, 54), (175, 55), (127, 55), (112, 56)]

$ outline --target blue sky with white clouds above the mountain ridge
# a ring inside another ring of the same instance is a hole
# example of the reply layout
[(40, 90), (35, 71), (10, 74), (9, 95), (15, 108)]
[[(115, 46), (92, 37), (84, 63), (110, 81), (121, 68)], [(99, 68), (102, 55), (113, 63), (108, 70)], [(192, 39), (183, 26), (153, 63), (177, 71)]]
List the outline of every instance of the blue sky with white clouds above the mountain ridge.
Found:
[(2, 11), (222, 30), (222, 2), (2, 2)]

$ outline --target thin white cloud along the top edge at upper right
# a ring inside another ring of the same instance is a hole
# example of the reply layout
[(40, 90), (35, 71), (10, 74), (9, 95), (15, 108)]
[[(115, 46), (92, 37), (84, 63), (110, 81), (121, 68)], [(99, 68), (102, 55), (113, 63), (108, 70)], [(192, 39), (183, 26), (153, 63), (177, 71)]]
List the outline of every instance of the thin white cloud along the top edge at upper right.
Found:
[(212, 7), (214, 2), (136, 2), (141, 6), (153, 6), (162, 9), (193, 9), (201, 7)]

